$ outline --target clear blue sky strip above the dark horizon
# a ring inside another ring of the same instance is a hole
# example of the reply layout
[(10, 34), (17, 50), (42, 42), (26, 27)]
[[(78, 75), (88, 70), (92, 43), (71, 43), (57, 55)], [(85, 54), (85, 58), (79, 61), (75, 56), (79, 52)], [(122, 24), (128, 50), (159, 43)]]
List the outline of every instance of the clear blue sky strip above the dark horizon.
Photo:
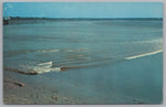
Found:
[(162, 2), (4, 2), (3, 17), (163, 18)]

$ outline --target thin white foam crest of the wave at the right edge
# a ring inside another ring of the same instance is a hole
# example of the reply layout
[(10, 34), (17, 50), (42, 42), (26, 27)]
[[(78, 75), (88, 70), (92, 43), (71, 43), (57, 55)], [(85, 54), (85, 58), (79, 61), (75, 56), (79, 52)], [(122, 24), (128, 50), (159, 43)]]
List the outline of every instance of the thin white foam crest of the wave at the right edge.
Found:
[(145, 54), (135, 55), (135, 56), (128, 56), (128, 57), (125, 57), (125, 60), (134, 60), (134, 58), (138, 58), (138, 57), (144, 57), (144, 56), (157, 54), (157, 53), (160, 53), (160, 52), (163, 52), (163, 50), (157, 50), (157, 51), (154, 51), (154, 52), (151, 52), (151, 53), (145, 53)]

